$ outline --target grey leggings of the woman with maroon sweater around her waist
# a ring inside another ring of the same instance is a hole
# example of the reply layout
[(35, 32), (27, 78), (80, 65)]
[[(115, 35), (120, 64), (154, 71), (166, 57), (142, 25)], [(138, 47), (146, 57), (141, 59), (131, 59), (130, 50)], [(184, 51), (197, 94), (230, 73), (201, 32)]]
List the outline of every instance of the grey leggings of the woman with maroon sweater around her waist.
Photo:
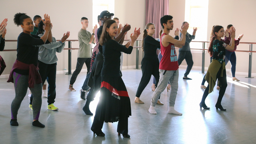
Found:
[[(12, 119), (17, 119), (20, 104), (26, 96), (28, 90), (28, 76), (14, 72), (13, 79), (15, 88), (15, 98), (12, 100), (11, 112)], [(32, 102), (33, 119), (38, 120), (42, 105), (42, 83), (34, 84), (34, 88), (30, 88), (30, 90), (34, 96)]]

